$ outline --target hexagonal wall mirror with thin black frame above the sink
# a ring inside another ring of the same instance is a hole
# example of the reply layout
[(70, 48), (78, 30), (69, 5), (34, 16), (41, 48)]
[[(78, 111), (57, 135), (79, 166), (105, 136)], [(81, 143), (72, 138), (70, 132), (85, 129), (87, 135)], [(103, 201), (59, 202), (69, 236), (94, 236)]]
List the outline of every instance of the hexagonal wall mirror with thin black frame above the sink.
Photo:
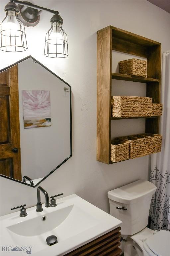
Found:
[(36, 187), (72, 156), (71, 86), (32, 56), (0, 70), (0, 176)]

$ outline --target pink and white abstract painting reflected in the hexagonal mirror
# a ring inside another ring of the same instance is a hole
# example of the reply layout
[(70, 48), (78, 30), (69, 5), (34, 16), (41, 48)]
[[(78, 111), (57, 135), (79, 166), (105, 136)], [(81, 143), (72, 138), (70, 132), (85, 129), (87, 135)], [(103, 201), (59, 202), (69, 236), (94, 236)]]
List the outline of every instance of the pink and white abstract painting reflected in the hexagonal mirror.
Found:
[(24, 128), (51, 126), (50, 91), (23, 90)]

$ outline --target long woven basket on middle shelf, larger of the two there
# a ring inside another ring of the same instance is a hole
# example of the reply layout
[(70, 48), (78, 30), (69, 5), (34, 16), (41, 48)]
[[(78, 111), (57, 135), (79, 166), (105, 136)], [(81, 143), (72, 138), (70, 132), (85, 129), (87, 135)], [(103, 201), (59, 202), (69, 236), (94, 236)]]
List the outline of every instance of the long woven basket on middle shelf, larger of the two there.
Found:
[(112, 97), (112, 117), (151, 116), (152, 98), (133, 96)]

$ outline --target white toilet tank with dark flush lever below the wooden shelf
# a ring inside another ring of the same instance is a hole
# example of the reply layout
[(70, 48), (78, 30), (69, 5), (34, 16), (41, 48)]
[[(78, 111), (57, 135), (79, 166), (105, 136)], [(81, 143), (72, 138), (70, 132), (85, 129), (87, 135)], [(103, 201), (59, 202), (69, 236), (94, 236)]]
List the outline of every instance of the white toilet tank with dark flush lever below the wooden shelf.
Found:
[[(110, 214), (123, 223), (122, 235), (133, 235), (147, 226), (149, 208), (156, 186), (146, 180), (137, 180), (108, 192)], [(117, 209), (125, 207), (127, 210)]]

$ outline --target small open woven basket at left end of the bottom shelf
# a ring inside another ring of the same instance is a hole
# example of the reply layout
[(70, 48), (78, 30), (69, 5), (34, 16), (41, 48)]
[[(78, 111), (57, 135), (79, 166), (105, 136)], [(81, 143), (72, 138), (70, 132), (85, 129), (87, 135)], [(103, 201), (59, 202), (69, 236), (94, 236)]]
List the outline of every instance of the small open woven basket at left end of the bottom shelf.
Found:
[(113, 140), (111, 142), (111, 161), (116, 163), (129, 159), (129, 142)]

